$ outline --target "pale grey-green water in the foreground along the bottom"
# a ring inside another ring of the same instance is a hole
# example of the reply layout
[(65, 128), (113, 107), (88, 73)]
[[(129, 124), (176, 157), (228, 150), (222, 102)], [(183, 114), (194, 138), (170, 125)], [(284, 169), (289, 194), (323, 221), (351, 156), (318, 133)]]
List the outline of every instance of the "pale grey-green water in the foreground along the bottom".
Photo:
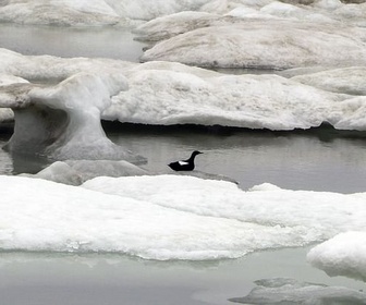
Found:
[[(252, 254), (221, 261), (149, 261), (119, 255), (4, 253), (0, 295), (11, 305), (230, 305), (254, 281), (292, 278), (361, 290), (305, 260), (308, 248)], [(274, 303), (273, 303), (274, 304)]]

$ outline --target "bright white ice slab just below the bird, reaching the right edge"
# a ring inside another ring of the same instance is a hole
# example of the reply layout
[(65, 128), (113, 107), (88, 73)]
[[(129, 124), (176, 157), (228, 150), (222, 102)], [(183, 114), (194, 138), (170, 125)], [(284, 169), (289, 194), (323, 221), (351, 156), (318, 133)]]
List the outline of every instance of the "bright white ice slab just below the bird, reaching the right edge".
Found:
[(365, 229), (365, 194), (294, 192), (272, 185), (243, 192), (230, 182), (185, 175), (96, 178), (83, 186), (194, 215), (277, 228), (276, 241), (264, 234), (261, 246), (267, 243), (298, 246), (351, 228)]

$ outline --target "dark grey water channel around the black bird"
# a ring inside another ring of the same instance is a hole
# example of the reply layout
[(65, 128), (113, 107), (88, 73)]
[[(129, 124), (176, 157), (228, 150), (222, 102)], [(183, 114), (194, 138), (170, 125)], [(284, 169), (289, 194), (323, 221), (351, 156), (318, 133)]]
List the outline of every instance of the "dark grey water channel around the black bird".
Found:
[[(331, 133), (334, 131), (107, 129), (114, 143), (147, 157), (144, 167), (156, 173), (172, 172), (169, 162), (185, 159), (197, 149), (204, 152), (196, 158), (197, 171), (228, 176), (244, 190), (268, 182), (290, 190), (366, 192), (366, 138)], [(0, 145), (5, 141), (7, 136), (0, 137)], [(0, 173), (36, 173), (47, 164), (45, 159), (0, 150)]]

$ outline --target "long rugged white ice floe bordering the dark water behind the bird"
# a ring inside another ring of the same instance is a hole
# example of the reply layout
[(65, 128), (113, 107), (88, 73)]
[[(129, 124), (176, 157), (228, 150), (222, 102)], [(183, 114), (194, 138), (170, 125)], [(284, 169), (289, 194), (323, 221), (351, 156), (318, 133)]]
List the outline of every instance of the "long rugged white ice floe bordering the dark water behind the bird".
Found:
[[(349, 76), (353, 75), (353, 84), (349, 84), (349, 87), (339, 86), (338, 91), (342, 94), (337, 94), (300, 83), (305, 83), (305, 76), (297, 81), (295, 77), (289, 80), (274, 74), (227, 75), (171, 62), (138, 64), (109, 59), (26, 57), (4, 49), (0, 50), (0, 54), (3, 54), (0, 61), (2, 73), (36, 83), (48, 80), (51, 84), (47, 86), (51, 87), (53, 82), (58, 84), (77, 73), (98, 75), (96, 77), (100, 82), (109, 82), (112, 75), (122, 74), (125, 88), (129, 84), (129, 89), (106, 93), (108, 100), (112, 95), (112, 103), (106, 105), (101, 113), (101, 118), (107, 120), (270, 130), (309, 129), (328, 122), (337, 129), (366, 130), (363, 115), (366, 97), (344, 95), (364, 82), (364, 75), (357, 73), (361, 68), (350, 69), (349, 73), (344, 70), (343, 78), (342, 73), (337, 80), (331, 73), (325, 74), (333, 86), (338, 86), (337, 82), (345, 84)], [(86, 82), (80, 85), (87, 87), (90, 84)], [(9, 107), (3, 89), (0, 91), (1, 106)], [(68, 95), (71, 95), (70, 89)], [(73, 95), (76, 98), (76, 93)], [(89, 111), (87, 105), (90, 106), (90, 102), (80, 103), (78, 109)], [(68, 108), (68, 111), (74, 110)]]

